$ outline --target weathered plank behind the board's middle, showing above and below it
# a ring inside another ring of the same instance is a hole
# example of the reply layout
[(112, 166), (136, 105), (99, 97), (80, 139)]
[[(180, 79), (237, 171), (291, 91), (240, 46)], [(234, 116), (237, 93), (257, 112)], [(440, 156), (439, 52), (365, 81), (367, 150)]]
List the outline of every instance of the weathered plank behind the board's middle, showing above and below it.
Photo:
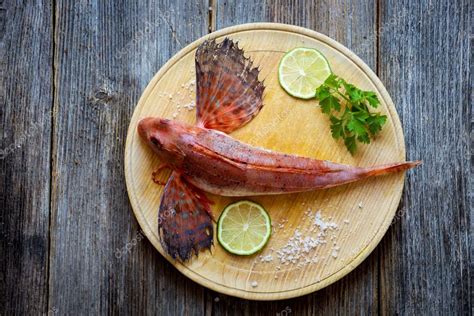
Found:
[[(376, 69), (376, 5), (372, 1), (217, 1), (216, 27), (249, 22), (280, 22), (304, 26), (349, 47)], [(302, 298), (281, 302), (250, 302), (207, 293), (208, 311), (220, 315), (367, 314), (378, 311), (378, 250), (355, 271), (334, 285)], [(218, 297), (218, 299), (216, 299)], [(216, 302), (217, 301), (217, 302)]]

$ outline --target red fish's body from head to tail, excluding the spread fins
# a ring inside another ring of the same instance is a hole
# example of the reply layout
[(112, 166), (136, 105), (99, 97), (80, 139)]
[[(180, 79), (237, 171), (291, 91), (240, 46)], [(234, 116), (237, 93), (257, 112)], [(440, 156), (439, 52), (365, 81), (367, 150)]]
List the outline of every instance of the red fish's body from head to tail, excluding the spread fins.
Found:
[[(149, 145), (158, 155), (163, 151), (163, 144), (157, 145), (157, 139), (172, 140), (170, 144), (174, 150), (166, 152), (175, 154), (167, 163), (185, 181), (205, 192), (222, 196), (324, 189), (406, 170), (418, 164), (402, 162), (356, 168), (250, 146), (217, 130), (166, 119), (145, 119), (140, 127), (143, 138), (153, 139)], [(144, 135), (146, 131), (150, 134)]]

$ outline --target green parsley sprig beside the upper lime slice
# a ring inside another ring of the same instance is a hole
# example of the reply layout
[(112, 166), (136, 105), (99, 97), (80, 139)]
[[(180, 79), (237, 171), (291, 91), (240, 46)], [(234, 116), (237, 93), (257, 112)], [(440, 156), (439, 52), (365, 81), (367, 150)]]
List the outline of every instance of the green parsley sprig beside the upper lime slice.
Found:
[(374, 92), (363, 91), (334, 74), (316, 89), (316, 99), (329, 116), (332, 137), (342, 138), (351, 154), (356, 152), (357, 141), (369, 144), (387, 121), (387, 116), (369, 111), (369, 106), (380, 104)]

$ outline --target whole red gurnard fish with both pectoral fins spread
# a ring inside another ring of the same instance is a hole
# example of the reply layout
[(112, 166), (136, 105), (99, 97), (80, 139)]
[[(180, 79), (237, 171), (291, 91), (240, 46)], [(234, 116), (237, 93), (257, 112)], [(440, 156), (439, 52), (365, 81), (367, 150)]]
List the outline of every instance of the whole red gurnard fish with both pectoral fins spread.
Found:
[(413, 168), (400, 162), (357, 168), (277, 153), (246, 145), (228, 135), (248, 123), (263, 106), (259, 71), (229, 39), (205, 41), (196, 52), (195, 126), (144, 118), (138, 133), (172, 169), (161, 198), (159, 231), (174, 259), (189, 259), (213, 243), (210, 201), (223, 196), (283, 194), (329, 188), (371, 176)]

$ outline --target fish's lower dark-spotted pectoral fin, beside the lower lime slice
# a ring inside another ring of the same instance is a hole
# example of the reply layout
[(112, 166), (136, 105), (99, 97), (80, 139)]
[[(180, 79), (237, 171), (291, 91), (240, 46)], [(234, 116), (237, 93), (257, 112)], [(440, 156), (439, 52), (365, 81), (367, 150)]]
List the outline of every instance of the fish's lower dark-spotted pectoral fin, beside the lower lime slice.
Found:
[(213, 244), (212, 217), (204, 192), (174, 171), (166, 183), (158, 212), (163, 248), (173, 259), (186, 261), (192, 252)]

